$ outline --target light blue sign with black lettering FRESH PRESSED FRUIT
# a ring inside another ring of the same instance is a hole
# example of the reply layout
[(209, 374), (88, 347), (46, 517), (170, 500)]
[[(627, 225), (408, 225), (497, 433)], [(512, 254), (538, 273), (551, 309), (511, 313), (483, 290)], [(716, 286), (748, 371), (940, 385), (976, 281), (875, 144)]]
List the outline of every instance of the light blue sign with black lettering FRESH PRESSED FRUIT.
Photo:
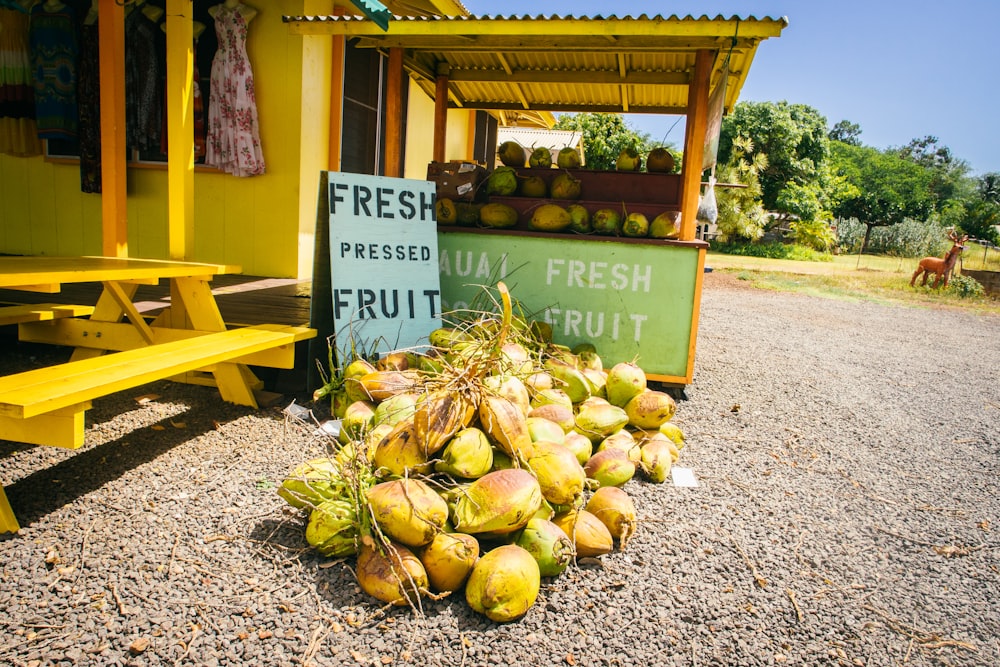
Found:
[(436, 186), (327, 173), (330, 275), (338, 345), (367, 352), (427, 344), (441, 326)]

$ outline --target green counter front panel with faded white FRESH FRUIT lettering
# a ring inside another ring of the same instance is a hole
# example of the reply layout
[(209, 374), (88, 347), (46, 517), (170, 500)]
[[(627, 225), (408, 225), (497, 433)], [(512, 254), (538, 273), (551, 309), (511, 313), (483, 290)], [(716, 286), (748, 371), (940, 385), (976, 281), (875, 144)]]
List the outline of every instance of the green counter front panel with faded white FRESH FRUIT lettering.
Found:
[(503, 280), (556, 343), (593, 343), (606, 367), (634, 360), (665, 381), (690, 379), (701, 246), (449, 231), (438, 248), (445, 315)]

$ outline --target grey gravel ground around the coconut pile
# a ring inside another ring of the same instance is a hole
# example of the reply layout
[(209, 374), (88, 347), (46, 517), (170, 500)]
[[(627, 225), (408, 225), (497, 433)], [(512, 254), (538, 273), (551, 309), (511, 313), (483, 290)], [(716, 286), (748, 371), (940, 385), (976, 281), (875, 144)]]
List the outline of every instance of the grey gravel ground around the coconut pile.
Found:
[(306, 549), (274, 486), (325, 445), (281, 405), (95, 401), (82, 450), (0, 442), (0, 663), (998, 665), (998, 334), (708, 274), (675, 418), (699, 486), (629, 482), (628, 549), (505, 625), (386, 610)]

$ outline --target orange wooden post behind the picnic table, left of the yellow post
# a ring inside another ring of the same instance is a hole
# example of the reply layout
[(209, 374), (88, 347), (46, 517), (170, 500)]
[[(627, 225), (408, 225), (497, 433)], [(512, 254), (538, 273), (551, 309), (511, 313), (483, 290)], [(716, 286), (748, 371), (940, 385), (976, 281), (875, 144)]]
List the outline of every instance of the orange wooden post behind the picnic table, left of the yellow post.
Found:
[(101, 254), (128, 257), (125, 157), (125, 10), (100, 0)]

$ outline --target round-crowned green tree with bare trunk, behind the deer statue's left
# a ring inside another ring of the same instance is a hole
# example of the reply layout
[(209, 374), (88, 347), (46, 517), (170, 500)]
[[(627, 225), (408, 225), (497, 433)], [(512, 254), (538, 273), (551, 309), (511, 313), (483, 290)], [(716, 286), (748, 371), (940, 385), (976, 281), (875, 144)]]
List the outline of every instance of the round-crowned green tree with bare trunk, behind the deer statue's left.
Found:
[(934, 210), (932, 174), (897, 152), (868, 146), (831, 143), (834, 170), (856, 189), (834, 209), (841, 218), (855, 218), (865, 225), (861, 252), (868, 247), (872, 229), (898, 224), (906, 218), (924, 219)]

